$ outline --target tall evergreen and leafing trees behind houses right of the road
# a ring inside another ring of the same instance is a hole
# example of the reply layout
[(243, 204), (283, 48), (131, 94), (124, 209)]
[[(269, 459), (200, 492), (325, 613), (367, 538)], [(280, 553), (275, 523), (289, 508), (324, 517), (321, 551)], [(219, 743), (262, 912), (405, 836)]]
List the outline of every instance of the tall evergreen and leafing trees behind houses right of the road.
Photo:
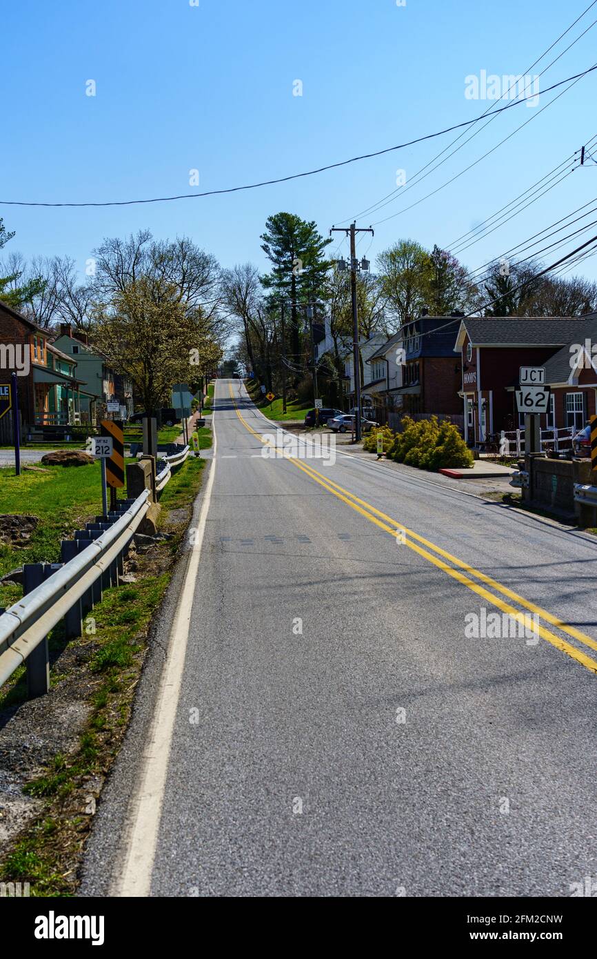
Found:
[[(278, 213), (265, 223), (262, 249), (271, 267), (222, 271), (222, 299), (236, 323), (236, 359), (275, 392), (312, 398), (313, 329), (327, 320), (332, 349), (317, 365), (321, 396), (340, 405), (344, 357), (353, 337), (351, 276), (333, 241), (315, 222)], [(597, 283), (540, 275), (534, 260), (496, 260), (475, 276), (448, 250), (402, 239), (382, 250), (375, 269), (359, 269), (361, 338), (386, 339), (426, 311), (431, 316), (585, 316), (597, 310)]]

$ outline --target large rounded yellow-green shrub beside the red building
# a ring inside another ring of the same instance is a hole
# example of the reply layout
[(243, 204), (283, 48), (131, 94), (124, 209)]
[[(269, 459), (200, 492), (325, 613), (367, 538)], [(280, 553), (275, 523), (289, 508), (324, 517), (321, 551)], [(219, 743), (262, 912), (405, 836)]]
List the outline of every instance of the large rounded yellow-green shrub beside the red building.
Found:
[(388, 453), (396, 462), (434, 471), (472, 466), (471, 450), (449, 420), (440, 424), (437, 416), (431, 416), (416, 423), (404, 416), (402, 426)]

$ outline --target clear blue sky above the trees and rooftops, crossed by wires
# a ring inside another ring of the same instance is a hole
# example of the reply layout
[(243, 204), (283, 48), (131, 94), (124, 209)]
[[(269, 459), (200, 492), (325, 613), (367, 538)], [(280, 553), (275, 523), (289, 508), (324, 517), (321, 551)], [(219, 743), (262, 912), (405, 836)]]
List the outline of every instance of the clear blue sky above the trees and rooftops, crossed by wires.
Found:
[[(467, 99), (466, 78), (482, 70), (500, 76), (524, 73), (589, 2), (406, 0), (399, 7), (396, 0), (198, 0), (198, 6), (189, 0), (28, 0), (6, 5), (0, 199), (169, 196), (299, 173), (382, 150), (482, 113), (492, 103)], [(597, 5), (531, 72), (540, 72), (596, 18)], [(597, 26), (541, 73), (540, 89), (597, 61), (596, 40)], [(97, 84), (95, 97), (86, 95), (89, 80)], [(295, 81), (303, 84), (302, 96), (293, 95)], [(403, 198), (359, 217), (359, 224), (368, 226), (425, 197), (534, 118), (446, 189), (380, 223), (373, 243), (364, 238), (359, 253), (368, 250), (375, 260), (380, 249), (401, 237), (449, 246), (597, 134), (597, 72), (540, 113), (553, 96), (541, 96), (536, 107), (508, 110)], [(0, 216), (7, 229), (16, 231), (4, 253), (68, 254), (82, 272), (104, 236), (148, 227), (159, 238), (192, 237), (224, 266), (251, 260), (263, 269), (259, 236), (268, 215), (294, 212), (327, 234), (333, 223), (395, 190), (397, 170), (405, 171), (408, 186), (409, 177), (455, 135), (223, 197), (104, 209), (2, 204)], [(199, 187), (189, 185), (193, 169), (199, 171)], [(462, 260), (478, 267), (595, 196), (597, 166), (592, 165), (471, 246)], [(568, 248), (593, 233), (597, 226)], [(346, 250), (344, 244), (344, 255)], [(597, 257), (582, 271), (597, 278)]]

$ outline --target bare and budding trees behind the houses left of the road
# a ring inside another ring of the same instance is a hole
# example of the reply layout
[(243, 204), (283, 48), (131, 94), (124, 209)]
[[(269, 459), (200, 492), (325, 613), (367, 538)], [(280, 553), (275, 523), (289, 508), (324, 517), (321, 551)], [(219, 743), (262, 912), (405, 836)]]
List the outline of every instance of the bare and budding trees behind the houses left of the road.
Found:
[[(0, 248), (12, 239), (0, 220)], [(72, 324), (133, 383), (144, 409), (170, 405), (175, 383), (195, 391), (214, 372), (229, 337), (218, 261), (188, 238), (155, 240), (149, 230), (104, 239), (80, 281), (69, 258), (19, 253), (0, 262), (0, 300), (38, 326)]]

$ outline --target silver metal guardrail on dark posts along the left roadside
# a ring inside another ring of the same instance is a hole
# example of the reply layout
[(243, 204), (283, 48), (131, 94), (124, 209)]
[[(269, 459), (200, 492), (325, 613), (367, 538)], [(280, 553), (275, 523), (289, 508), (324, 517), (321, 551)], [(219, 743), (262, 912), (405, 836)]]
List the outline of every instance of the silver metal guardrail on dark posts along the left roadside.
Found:
[[(166, 466), (156, 477), (157, 490), (164, 488), (172, 469), (181, 466), (190, 452), (185, 446), (180, 453), (164, 457)], [(149, 490), (145, 490), (134, 502), (121, 502), (120, 509), (128, 508), (109, 514), (104, 518), (107, 522), (87, 524), (75, 533), (74, 541), (62, 544), (63, 558), (72, 554), (64, 563), (24, 566), (26, 595), (0, 615), (0, 686), (25, 663), (29, 698), (49, 690), (49, 632), (64, 620), (68, 639), (82, 635), (83, 619), (102, 600), (103, 590), (118, 585), (124, 556), (149, 503)]]

